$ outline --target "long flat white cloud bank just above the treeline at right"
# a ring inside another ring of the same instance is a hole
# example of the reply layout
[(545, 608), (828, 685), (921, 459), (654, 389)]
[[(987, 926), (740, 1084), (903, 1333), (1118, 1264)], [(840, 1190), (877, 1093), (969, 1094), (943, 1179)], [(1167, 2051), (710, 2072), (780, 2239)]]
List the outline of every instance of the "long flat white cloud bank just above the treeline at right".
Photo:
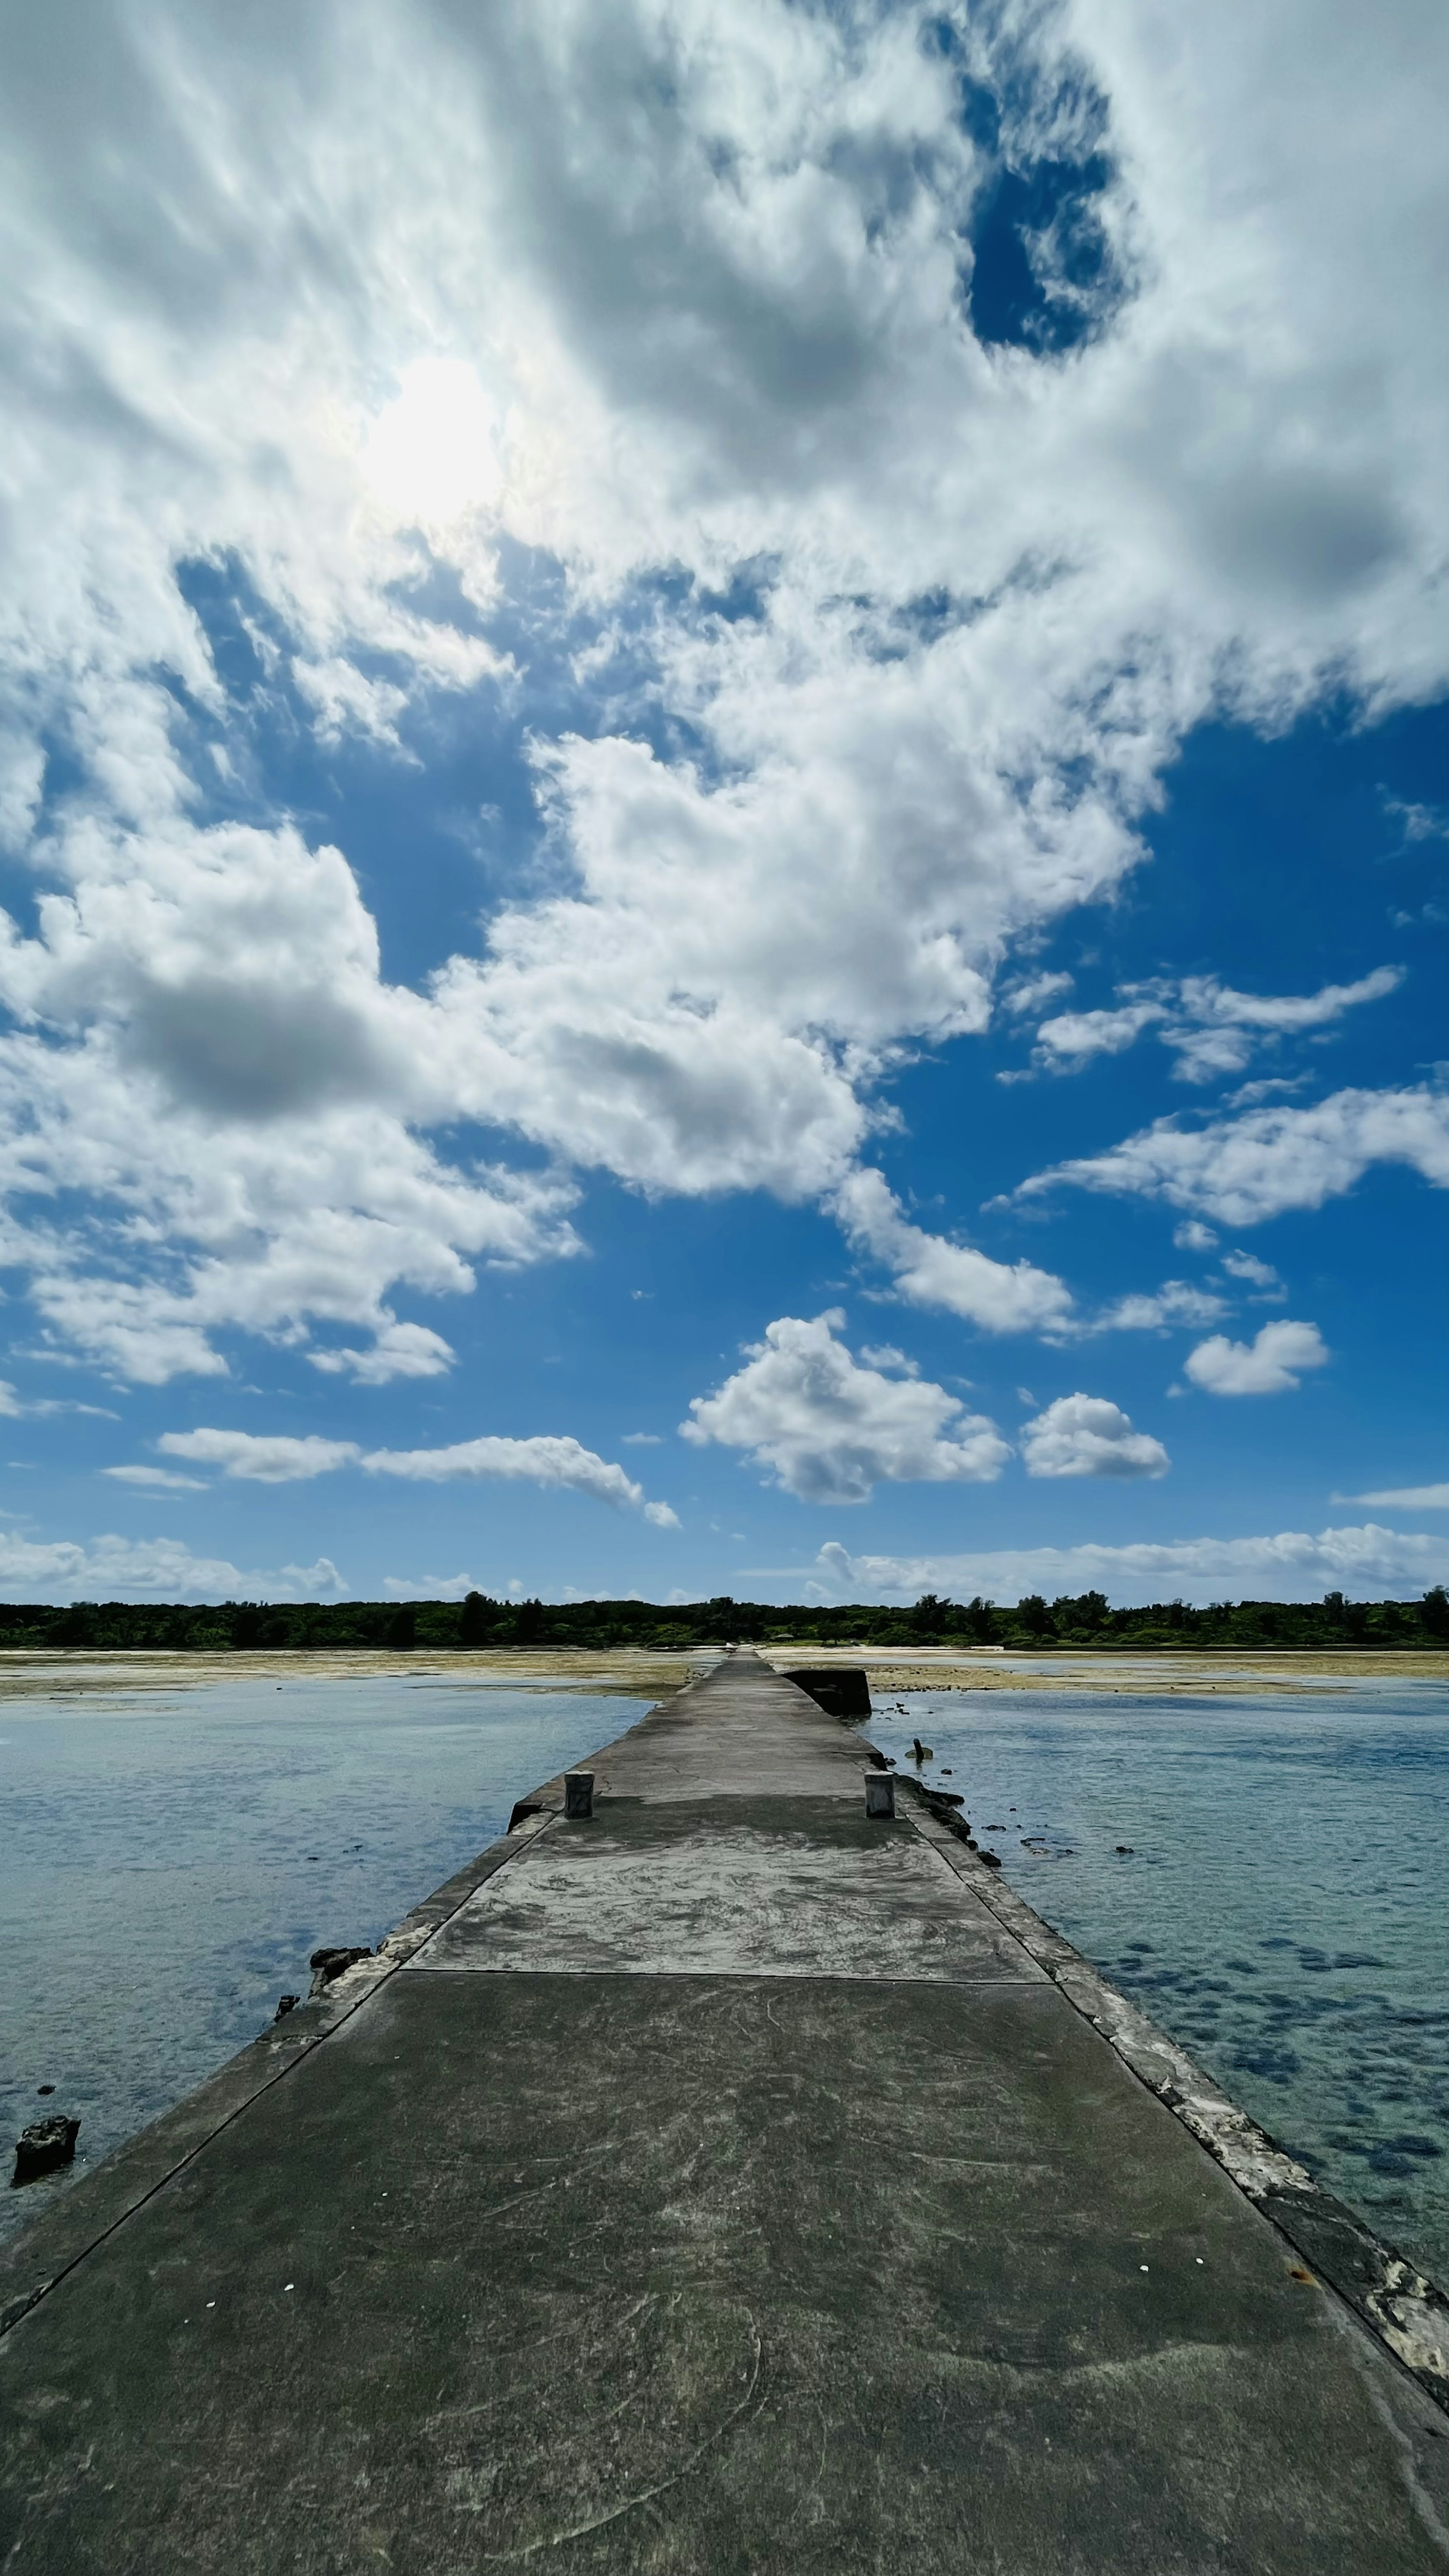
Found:
[[(768, 1571), (768, 1569), (755, 1569)], [(1449, 1582), (1449, 1538), (1359, 1528), (1279, 1530), (1261, 1538), (1132, 1540), (1083, 1548), (987, 1548), (969, 1556), (851, 1556), (820, 1548), (815, 1574), (833, 1600), (1021, 1600), (1024, 1592), (1091, 1592), (1132, 1605), (1152, 1600), (1400, 1600)], [(784, 1574), (799, 1579), (799, 1569)]]

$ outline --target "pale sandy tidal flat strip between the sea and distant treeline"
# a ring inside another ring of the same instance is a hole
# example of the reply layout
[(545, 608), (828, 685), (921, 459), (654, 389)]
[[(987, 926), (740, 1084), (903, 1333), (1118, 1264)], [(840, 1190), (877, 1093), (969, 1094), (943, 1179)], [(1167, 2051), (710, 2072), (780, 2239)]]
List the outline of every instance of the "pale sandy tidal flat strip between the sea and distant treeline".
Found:
[[(1261, 1698), (1354, 1690), (1366, 1680), (1449, 1682), (1449, 1651), (1315, 1649), (1276, 1654), (1271, 1649), (1222, 1649), (1217, 1654), (1008, 1654), (1000, 1646), (969, 1651), (954, 1646), (761, 1646), (776, 1669), (797, 1664), (853, 1664), (869, 1672), (877, 1700), (905, 1690), (1070, 1690), (1132, 1698), (1222, 1695)], [(351, 1649), (338, 1654), (34, 1654), (0, 1651), (0, 1700), (90, 1698), (116, 1690), (201, 1690), (211, 1682), (364, 1682), (376, 1677), (436, 1677), (474, 1687), (598, 1690), (621, 1698), (663, 1700), (688, 1672), (714, 1662), (714, 1649), (696, 1654), (650, 1654), (642, 1649), (503, 1649), (498, 1654), (387, 1654)]]

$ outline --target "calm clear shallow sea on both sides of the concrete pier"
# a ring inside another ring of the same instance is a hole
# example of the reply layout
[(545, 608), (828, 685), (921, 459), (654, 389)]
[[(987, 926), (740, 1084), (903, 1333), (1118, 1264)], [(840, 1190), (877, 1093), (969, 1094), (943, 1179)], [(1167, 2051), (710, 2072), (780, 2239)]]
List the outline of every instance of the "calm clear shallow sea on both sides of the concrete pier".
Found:
[[(642, 1705), (425, 1674), (8, 1703), (0, 2146), (64, 2107), (83, 2172), (304, 1994), (309, 1950), (376, 1942)], [(874, 1739), (933, 1747), (1036, 1911), (1449, 2280), (1444, 1695), (902, 1710)], [(62, 2187), (0, 2187), (0, 2231)]]

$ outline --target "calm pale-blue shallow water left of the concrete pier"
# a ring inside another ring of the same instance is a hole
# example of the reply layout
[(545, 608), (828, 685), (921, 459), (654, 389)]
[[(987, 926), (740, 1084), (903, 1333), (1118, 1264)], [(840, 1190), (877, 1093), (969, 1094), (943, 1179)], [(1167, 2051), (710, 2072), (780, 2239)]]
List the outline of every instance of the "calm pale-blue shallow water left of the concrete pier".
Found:
[(307, 1994), (312, 1950), (382, 1940), (645, 1705), (405, 1674), (5, 1705), (0, 2146), (64, 2110), (80, 2154), (0, 2182), (0, 2236)]

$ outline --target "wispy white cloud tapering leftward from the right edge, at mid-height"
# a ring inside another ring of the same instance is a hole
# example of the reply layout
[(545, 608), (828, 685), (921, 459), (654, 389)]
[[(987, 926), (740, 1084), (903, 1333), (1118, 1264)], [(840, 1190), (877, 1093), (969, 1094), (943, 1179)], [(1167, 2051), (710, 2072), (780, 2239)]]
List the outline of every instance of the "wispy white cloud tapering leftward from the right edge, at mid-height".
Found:
[(1016, 1195), (1109, 1190), (1256, 1226), (1284, 1208), (1346, 1195), (1377, 1162), (1408, 1164), (1434, 1188), (1449, 1188), (1449, 1095), (1426, 1084), (1333, 1092), (1315, 1108), (1258, 1108), (1201, 1128), (1158, 1118), (1106, 1154), (1036, 1172)]

